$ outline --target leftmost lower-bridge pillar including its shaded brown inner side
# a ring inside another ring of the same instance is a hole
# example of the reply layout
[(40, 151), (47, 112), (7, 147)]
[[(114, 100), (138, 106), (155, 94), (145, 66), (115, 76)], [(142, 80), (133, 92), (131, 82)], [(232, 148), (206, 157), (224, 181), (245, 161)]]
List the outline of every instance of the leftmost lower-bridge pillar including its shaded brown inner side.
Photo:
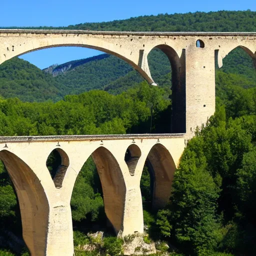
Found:
[(45, 157), (27, 158), (0, 151), (17, 193), (23, 239), (31, 256), (72, 256), (71, 192), (54, 186)]

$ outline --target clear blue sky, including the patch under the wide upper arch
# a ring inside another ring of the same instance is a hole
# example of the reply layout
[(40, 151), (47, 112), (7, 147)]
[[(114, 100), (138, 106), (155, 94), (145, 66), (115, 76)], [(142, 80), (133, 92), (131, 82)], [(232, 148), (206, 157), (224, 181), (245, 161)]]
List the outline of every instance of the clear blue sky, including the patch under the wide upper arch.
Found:
[[(0, 26), (66, 26), (159, 13), (256, 10), (255, 0), (2, 0)], [(80, 47), (34, 51), (22, 58), (40, 68), (100, 52)]]

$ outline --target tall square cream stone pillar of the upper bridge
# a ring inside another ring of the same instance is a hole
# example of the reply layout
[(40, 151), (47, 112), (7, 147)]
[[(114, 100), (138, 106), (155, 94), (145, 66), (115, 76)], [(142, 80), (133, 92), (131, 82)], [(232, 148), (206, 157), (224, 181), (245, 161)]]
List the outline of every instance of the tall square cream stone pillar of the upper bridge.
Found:
[(186, 49), (186, 138), (215, 111), (215, 58), (212, 47)]

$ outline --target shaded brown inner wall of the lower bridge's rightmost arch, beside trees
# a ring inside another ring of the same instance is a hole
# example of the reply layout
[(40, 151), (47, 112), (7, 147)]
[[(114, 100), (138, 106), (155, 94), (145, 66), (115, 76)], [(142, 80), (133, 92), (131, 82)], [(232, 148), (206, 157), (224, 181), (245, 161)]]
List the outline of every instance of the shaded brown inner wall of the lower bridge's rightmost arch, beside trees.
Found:
[(160, 143), (152, 146), (147, 155), (147, 160), (149, 161), (147, 167), (150, 177), (154, 178), (151, 182), (153, 189), (152, 208), (163, 208), (169, 201), (176, 166), (170, 152)]

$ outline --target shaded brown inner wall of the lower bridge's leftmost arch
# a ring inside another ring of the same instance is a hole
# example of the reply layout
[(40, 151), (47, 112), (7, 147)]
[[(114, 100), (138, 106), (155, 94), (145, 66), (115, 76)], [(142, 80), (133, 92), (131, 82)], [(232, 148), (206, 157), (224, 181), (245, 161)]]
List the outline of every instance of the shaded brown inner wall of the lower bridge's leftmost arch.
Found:
[(33, 170), (8, 150), (0, 151), (15, 187), (22, 222), (23, 239), (32, 256), (46, 251), (49, 204), (40, 180)]

